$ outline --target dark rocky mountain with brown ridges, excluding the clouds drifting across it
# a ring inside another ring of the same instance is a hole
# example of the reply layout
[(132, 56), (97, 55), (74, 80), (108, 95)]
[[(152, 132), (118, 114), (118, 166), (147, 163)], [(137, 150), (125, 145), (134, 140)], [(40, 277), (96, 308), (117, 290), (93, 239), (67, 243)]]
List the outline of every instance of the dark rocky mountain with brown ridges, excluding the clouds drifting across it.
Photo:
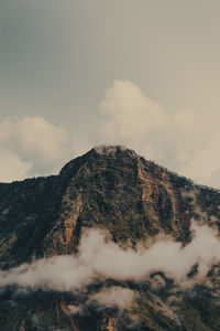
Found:
[[(76, 255), (81, 233), (92, 227), (108, 229), (121, 249), (135, 250), (140, 243), (147, 247), (160, 233), (187, 246), (191, 220), (219, 228), (220, 192), (122, 147), (96, 148), (58, 175), (0, 184), (1, 273), (35, 259)], [(1, 330), (220, 330), (219, 274), (219, 266), (211, 266), (212, 290), (196, 285), (190, 292), (175, 290), (161, 271), (141, 282), (96, 280), (77, 295), (8, 285), (0, 290)], [(80, 313), (69, 308), (82, 307), (89, 293), (111, 286), (135, 292), (130, 308), (87, 303)]]

